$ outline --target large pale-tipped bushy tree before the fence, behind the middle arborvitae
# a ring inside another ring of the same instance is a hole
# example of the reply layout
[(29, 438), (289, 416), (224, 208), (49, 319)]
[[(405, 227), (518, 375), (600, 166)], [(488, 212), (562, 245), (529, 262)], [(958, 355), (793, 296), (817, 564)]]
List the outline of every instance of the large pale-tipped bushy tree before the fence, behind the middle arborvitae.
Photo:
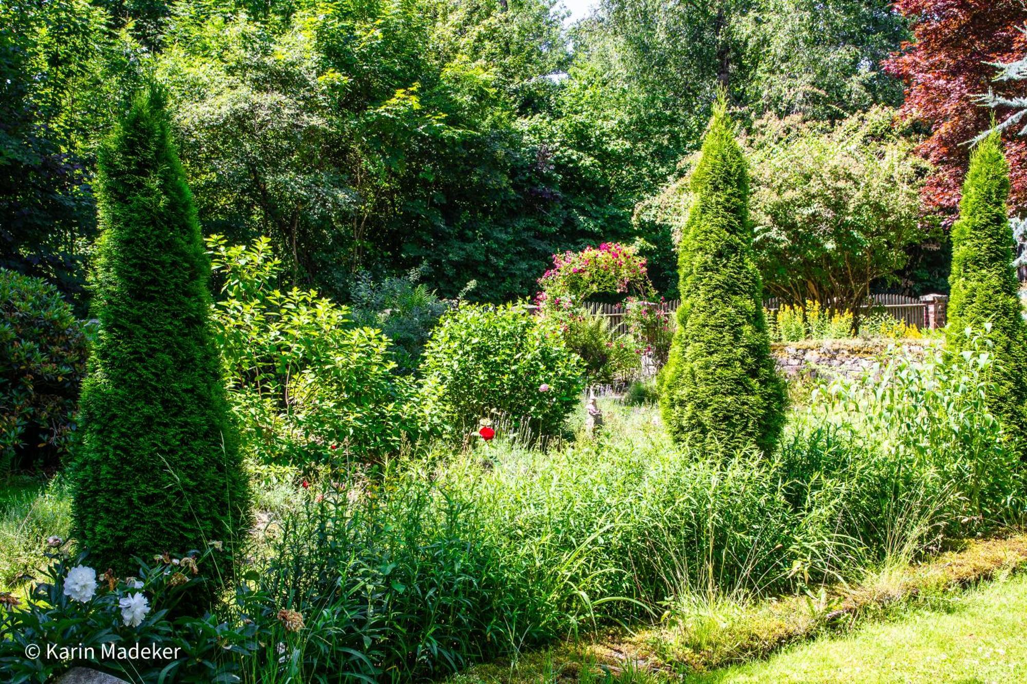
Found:
[[(768, 294), (798, 306), (854, 310), (872, 284), (896, 284), (908, 249), (937, 232), (937, 221), (921, 215), (930, 165), (893, 128), (893, 114), (876, 107), (834, 124), (801, 115), (754, 122), (744, 144)], [(680, 177), (640, 205), (638, 220), (650, 230), (681, 238), (697, 160), (686, 158)]]

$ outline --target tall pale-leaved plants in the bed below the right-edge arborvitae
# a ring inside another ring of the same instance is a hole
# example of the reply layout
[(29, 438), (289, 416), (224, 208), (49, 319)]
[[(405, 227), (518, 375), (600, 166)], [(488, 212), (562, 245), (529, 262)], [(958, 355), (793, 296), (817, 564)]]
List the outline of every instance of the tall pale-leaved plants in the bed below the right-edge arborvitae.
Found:
[(838, 533), (870, 558), (1021, 520), (1027, 481), (989, 410), (995, 360), (986, 338), (966, 346), (895, 352), (862, 377), (822, 383), (783, 440), (794, 486), (831, 501)]

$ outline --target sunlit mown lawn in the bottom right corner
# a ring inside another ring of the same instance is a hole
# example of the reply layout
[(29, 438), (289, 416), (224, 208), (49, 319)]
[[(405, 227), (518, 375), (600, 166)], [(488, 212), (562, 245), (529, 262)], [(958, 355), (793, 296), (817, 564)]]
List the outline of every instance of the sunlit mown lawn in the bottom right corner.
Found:
[(1024, 682), (1027, 575), (962, 595), (950, 612), (915, 612), (687, 681)]

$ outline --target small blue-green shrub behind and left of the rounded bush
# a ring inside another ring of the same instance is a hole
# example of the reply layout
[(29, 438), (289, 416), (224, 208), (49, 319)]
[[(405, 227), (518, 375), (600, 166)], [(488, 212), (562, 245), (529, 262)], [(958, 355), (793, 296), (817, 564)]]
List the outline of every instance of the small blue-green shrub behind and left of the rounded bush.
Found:
[(403, 375), (417, 370), (431, 329), (449, 308), (449, 303), (417, 280), (416, 270), (407, 277), (389, 277), (380, 282), (364, 272), (350, 289), (353, 324), (385, 334), (395, 372)]

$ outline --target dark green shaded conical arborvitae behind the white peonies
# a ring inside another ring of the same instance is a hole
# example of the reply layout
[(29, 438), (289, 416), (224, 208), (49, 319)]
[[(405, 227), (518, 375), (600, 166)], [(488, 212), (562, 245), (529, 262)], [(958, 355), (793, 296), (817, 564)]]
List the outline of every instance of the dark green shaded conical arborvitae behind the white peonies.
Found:
[(82, 385), (74, 525), (90, 564), (203, 548), (250, 521), (218, 349), (210, 263), (170, 138), (164, 96), (137, 97), (105, 141)]

